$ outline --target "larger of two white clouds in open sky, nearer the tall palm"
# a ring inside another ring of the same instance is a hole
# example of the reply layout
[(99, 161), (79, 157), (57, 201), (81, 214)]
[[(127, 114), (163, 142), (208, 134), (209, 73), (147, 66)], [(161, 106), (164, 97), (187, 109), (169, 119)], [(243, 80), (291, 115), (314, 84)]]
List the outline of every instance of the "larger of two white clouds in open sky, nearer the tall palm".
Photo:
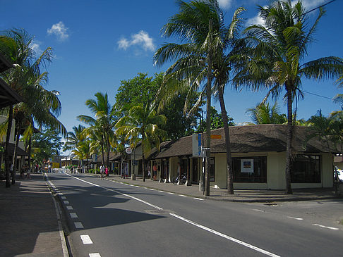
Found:
[(156, 46), (153, 42), (153, 39), (149, 37), (148, 32), (145, 32), (144, 30), (140, 30), (140, 32), (131, 35), (131, 39), (128, 40), (125, 37), (122, 37), (118, 41), (118, 47), (119, 49), (128, 49), (129, 46), (142, 46), (145, 51), (155, 51)]

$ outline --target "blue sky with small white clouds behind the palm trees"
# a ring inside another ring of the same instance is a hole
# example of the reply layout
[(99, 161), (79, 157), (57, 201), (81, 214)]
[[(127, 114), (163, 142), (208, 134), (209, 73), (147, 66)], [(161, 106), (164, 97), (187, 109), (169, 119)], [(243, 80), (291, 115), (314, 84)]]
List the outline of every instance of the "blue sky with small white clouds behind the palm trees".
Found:
[[(239, 6), (246, 8), (243, 17), (247, 24), (257, 19), (256, 4), (269, 1), (221, 0), (226, 23)], [(303, 1), (308, 9), (329, 0)], [(178, 12), (174, 0), (0, 0), (0, 30), (24, 28), (35, 36), (32, 47), (37, 53), (51, 46), (54, 60), (48, 67), (47, 89), (61, 92), (62, 113), (59, 120), (68, 131), (80, 122), (76, 116), (90, 115), (85, 106), (96, 92), (107, 92), (114, 104), (121, 80), (129, 80), (137, 73), (149, 76), (163, 72), (167, 65), (155, 67), (152, 56), (164, 42), (173, 39), (161, 37), (160, 30), (170, 16)], [(315, 38), (305, 61), (324, 56), (343, 57), (342, 27), (343, 1), (325, 6), (327, 15), (321, 18)], [(318, 11), (311, 14), (315, 18)], [(312, 24), (312, 23), (310, 23)], [(333, 80), (324, 82), (303, 80), (305, 99), (299, 101), (298, 117), (308, 119), (322, 109), (324, 115), (337, 111), (340, 106), (330, 99), (342, 89)], [(236, 92), (225, 90), (225, 104), (235, 123), (251, 121), (247, 108), (258, 104), (266, 92)], [(318, 94), (320, 96), (315, 96)], [(282, 99), (280, 111), (286, 113)], [(219, 103), (213, 104), (219, 110)]]

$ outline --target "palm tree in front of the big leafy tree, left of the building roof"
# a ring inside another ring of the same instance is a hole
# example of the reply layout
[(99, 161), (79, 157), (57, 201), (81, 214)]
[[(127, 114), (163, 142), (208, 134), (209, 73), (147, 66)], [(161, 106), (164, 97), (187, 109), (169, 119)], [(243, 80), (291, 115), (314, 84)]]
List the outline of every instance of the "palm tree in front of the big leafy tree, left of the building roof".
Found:
[(132, 148), (139, 142), (142, 144), (143, 181), (145, 181), (145, 156), (156, 146), (160, 149), (160, 142), (166, 136), (160, 125), (166, 123), (164, 115), (157, 115), (153, 104), (133, 106), (128, 115), (120, 118), (116, 123), (116, 133), (126, 134)]

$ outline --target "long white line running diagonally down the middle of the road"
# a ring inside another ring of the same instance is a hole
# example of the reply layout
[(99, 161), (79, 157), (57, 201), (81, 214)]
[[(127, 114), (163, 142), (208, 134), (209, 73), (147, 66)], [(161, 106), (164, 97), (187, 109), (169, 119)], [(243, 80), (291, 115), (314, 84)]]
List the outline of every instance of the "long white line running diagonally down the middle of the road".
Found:
[[(66, 173), (66, 174), (67, 174), (67, 173)], [(73, 177), (73, 178), (75, 178), (76, 180), (80, 180), (80, 181), (82, 181), (82, 182), (85, 182), (85, 183), (87, 183), (87, 184), (92, 184), (92, 185), (95, 186), (95, 187), (101, 187), (101, 188), (103, 188), (103, 189), (106, 189), (106, 190), (115, 192), (116, 194), (121, 194), (121, 195), (127, 196), (127, 197), (129, 197), (129, 198), (131, 198), (131, 199), (135, 199), (136, 201), (140, 201), (141, 203), (145, 203), (145, 204), (147, 204), (148, 206), (152, 206), (153, 208), (157, 208), (157, 210), (163, 210), (163, 208), (160, 208), (160, 207), (158, 207), (158, 206), (155, 206), (155, 205), (152, 204), (152, 203), (148, 203), (148, 201), (143, 201), (143, 200), (141, 200), (141, 199), (139, 199), (139, 198), (137, 198), (137, 197), (135, 197), (135, 196), (130, 196), (130, 195), (128, 195), (128, 194), (123, 194), (123, 193), (118, 192), (118, 191), (116, 191), (116, 190), (109, 189), (109, 188), (107, 188), (107, 187), (102, 187), (102, 186), (100, 186), (100, 185), (98, 185), (98, 184), (94, 184), (94, 183), (92, 183), (92, 182), (88, 182), (88, 181), (85, 181), (85, 180), (81, 180), (81, 179), (78, 178), (78, 177), (74, 177), (74, 176), (69, 175), (69, 174), (67, 174), (67, 175), (68, 175), (68, 176), (71, 176), (71, 177)], [(179, 216), (179, 215), (176, 215), (176, 214), (174, 214), (174, 213), (169, 213), (169, 214), (172, 215), (172, 216), (174, 216), (175, 218), (179, 218), (180, 220), (186, 221), (186, 222), (188, 222), (188, 223), (191, 224), (191, 225), (194, 225), (194, 226), (196, 226), (196, 227), (200, 227), (200, 228), (203, 229), (203, 230), (206, 230), (206, 231), (208, 231), (208, 232), (211, 232), (211, 233), (213, 233), (213, 234), (216, 234), (216, 235), (219, 236), (219, 237), (224, 237), (225, 239), (229, 239), (229, 240), (231, 240), (232, 242), (235, 242), (235, 243), (237, 243), (237, 244), (241, 244), (242, 246), (246, 246), (246, 247), (248, 247), (248, 248), (250, 248), (250, 249), (253, 249), (253, 250), (255, 250), (255, 251), (258, 251), (258, 252), (260, 252), (260, 253), (264, 253), (264, 254), (267, 255), (267, 256), (280, 257), (280, 256), (278, 256), (277, 254), (270, 253), (269, 251), (265, 251), (265, 250), (260, 249), (260, 248), (258, 248), (258, 247), (256, 247), (256, 246), (253, 246), (253, 245), (251, 245), (251, 244), (248, 244), (248, 243), (246, 243), (246, 242), (243, 242), (243, 241), (241, 241), (241, 240), (239, 240), (239, 239), (235, 239), (234, 237), (229, 237), (229, 236), (226, 235), (226, 234), (222, 234), (222, 233), (220, 233), (220, 232), (217, 232), (217, 231), (215, 231), (215, 230), (212, 230), (212, 229), (210, 229), (209, 227), (205, 227), (205, 226), (203, 226), (203, 225), (200, 225), (200, 224), (198, 224), (198, 223), (196, 223), (196, 222), (193, 222), (193, 221), (191, 221), (191, 220), (188, 220), (188, 219), (186, 219), (186, 218), (183, 218), (183, 217), (181, 217), (181, 216)]]

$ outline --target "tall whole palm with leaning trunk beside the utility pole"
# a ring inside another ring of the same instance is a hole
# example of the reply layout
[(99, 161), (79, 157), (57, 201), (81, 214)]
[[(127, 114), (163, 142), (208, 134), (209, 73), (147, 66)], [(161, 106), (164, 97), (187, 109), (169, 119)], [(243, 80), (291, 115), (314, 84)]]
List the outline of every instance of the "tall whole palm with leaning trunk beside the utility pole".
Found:
[[(176, 36), (184, 44), (165, 44), (155, 53), (155, 61), (162, 64), (172, 59), (176, 62), (167, 70), (165, 89), (160, 91), (170, 99), (175, 92), (188, 89), (195, 91), (201, 82), (210, 77), (214, 79), (212, 93), (218, 97), (224, 123), (225, 145), (227, 150), (227, 189), (229, 194), (234, 194), (233, 172), (231, 166), (231, 146), (229, 139), (229, 125), (227, 111), (224, 104), (224, 87), (229, 82), (234, 56), (244, 49), (243, 40), (239, 40), (239, 28), (241, 18), (239, 15), (244, 11), (238, 8), (229, 25), (224, 24), (224, 15), (219, 8), (217, 0), (177, 1), (179, 13), (169, 19), (164, 25), (163, 33), (167, 37)], [(210, 57), (210, 58), (209, 58)], [(204, 65), (207, 60), (207, 66)], [(210, 67), (210, 73), (207, 68)], [(191, 87), (186, 85), (191, 84)], [(208, 88), (208, 87), (207, 87)], [(198, 103), (193, 106), (191, 112), (198, 108), (201, 97), (207, 92), (207, 106), (210, 106), (210, 89), (204, 88), (200, 94)], [(169, 92), (169, 94), (168, 94)], [(185, 104), (187, 108), (188, 101)], [(207, 120), (210, 124), (210, 108), (207, 108)], [(210, 129), (207, 129), (210, 133)], [(210, 134), (207, 134), (207, 142), (210, 144)], [(208, 145), (207, 145), (208, 147)], [(208, 186), (208, 181), (206, 182)], [(206, 189), (205, 189), (206, 190)], [(206, 194), (209, 194), (206, 190)]]

